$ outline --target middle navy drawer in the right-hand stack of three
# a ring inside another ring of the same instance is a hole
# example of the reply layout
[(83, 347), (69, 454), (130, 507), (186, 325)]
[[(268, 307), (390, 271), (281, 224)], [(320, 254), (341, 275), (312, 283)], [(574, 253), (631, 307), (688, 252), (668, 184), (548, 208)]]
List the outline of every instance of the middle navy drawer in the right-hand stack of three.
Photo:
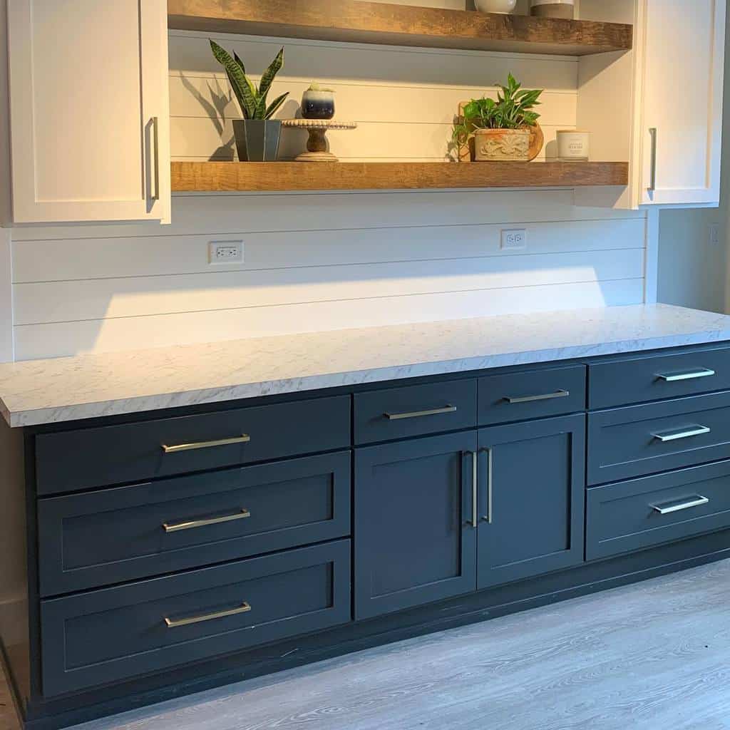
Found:
[(668, 472), (730, 457), (730, 393), (588, 415), (588, 483)]

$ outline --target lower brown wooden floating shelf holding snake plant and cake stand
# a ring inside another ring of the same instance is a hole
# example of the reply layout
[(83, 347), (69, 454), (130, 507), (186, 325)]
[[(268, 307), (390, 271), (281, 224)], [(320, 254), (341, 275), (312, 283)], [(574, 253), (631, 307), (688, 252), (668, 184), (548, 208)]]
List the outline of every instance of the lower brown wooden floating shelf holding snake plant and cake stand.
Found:
[(628, 185), (626, 162), (174, 162), (172, 190), (328, 191)]

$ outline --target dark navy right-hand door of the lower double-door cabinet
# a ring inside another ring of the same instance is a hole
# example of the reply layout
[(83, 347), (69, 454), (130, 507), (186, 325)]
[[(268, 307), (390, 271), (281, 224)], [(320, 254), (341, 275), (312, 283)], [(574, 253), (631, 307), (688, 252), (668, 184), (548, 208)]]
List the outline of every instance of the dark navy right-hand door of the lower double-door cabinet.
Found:
[(477, 585), (583, 561), (585, 416), (479, 432)]

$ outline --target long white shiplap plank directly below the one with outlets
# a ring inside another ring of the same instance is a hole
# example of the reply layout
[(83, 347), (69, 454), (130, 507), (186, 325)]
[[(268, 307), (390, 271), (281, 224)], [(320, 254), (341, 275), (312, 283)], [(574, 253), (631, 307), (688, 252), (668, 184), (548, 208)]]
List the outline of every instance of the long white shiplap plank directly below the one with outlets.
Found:
[(307, 266), (261, 272), (128, 277), (15, 286), (19, 325), (140, 317), (172, 312), (272, 307), (315, 301), (376, 299), (444, 291), (637, 279), (644, 252), (591, 251), (511, 258)]

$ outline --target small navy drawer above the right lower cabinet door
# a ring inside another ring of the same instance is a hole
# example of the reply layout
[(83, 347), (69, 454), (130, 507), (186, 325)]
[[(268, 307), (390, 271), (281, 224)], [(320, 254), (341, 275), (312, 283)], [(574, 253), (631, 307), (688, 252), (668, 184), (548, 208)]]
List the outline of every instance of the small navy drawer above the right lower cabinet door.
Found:
[(585, 410), (585, 366), (488, 375), (479, 380), (480, 426)]

